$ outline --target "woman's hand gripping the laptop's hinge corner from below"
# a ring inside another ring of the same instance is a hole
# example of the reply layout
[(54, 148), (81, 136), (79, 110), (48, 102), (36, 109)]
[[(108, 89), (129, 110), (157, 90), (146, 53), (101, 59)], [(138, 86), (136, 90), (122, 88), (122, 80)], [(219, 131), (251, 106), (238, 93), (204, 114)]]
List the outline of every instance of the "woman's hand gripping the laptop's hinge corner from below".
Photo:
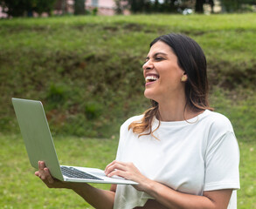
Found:
[(60, 181), (59, 179), (54, 179), (45, 166), (44, 161), (38, 161), (38, 172), (35, 172), (35, 175), (38, 176), (49, 188), (70, 188), (70, 183)]

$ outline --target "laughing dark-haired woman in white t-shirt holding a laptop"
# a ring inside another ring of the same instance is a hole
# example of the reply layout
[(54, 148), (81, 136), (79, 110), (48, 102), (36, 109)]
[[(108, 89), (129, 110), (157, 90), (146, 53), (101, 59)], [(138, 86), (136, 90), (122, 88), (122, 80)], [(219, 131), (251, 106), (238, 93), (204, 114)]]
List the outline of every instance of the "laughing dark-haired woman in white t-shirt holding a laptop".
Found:
[(142, 68), (152, 108), (121, 125), (116, 160), (105, 170), (138, 185), (104, 191), (59, 182), (44, 162), (35, 174), (95, 208), (237, 208), (239, 146), (230, 121), (208, 104), (200, 46), (181, 34), (157, 37)]

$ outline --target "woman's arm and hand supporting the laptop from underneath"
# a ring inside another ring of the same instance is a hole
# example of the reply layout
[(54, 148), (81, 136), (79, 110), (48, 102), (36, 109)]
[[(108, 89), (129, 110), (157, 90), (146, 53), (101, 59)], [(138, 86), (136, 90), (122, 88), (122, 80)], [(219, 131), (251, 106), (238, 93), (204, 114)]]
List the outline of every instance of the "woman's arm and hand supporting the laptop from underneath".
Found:
[(35, 172), (35, 175), (42, 179), (45, 185), (49, 188), (72, 189), (85, 199), (86, 202), (97, 209), (112, 209), (114, 206), (114, 185), (111, 186), (110, 191), (106, 191), (95, 188), (86, 183), (64, 182), (59, 181), (58, 179), (53, 179), (49, 169), (45, 167), (45, 163), (43, 161), (38, 162), (38, 172)]

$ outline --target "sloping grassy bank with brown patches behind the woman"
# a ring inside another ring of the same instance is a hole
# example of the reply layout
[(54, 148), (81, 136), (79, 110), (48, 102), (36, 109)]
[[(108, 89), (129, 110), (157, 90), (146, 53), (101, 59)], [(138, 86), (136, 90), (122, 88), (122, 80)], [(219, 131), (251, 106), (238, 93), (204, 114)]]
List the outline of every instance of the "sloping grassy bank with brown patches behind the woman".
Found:
[(2, 20), (0, 130), (19, 131), (10, 100), (16, 97), (41, 100), (55, 134), (117, 133), (149, 107), (142, 76), (149, 43), (174, 31), (202, 46), (212, 106), (232, 120), (239, 140), (252, 141), (255, 30), (255, 14)]

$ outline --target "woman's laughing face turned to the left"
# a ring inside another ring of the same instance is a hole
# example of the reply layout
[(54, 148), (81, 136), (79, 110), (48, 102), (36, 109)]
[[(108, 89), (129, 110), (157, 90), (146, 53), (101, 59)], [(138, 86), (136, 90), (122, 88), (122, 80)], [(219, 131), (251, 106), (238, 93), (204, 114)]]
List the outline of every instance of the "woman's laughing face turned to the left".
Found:
[(178, 66), (176, 54), (168, 44), (158, 41), (152, 45), (142, 68), (146, 98), (160, 103), (184, 93), (184, 83), (181, 81), (184, 71)]

